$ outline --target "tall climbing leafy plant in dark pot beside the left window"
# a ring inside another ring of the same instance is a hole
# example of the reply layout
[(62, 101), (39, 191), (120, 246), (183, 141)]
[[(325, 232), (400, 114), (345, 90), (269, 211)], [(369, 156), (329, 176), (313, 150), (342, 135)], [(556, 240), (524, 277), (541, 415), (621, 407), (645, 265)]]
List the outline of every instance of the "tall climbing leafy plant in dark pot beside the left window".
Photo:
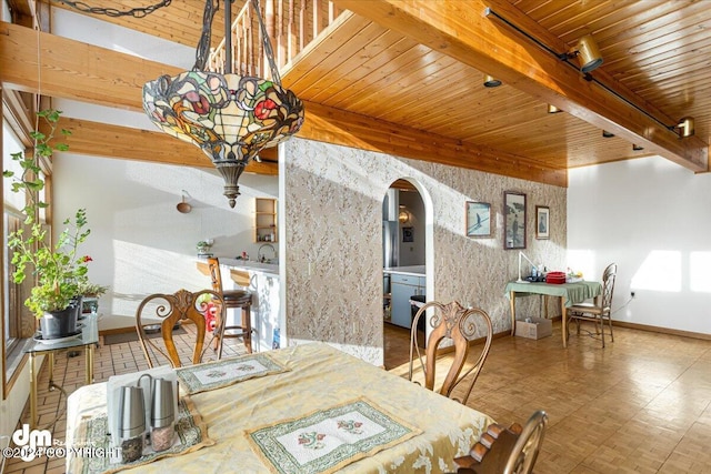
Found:
[[(79, 209), (73, 219), (67, 219), (64, 230), (52, 244), (47, 229), (39, 219), (39, 210), (47, 203), (39, 199), (44, 188), (41, 179), (40, 160), (51, 158), (54, 151), (68, 150), (67, 144), (50, 144), (54, 138), (57, 122), (61, 112), (44, 110), (38, 112), (50, 128), (49, 134), (32, 132), (34, 153), (13, 153), (12, 160), (21, 167), (22, 173), (16, 174), (6, 170), (3, 175), (12, 180), (13, 192), (26, 192), (27, 205), (22, 210), (26, 216), (24, 226), (12, 232), (8, 246), (14, 251), (12, 264), (16, 265), (13, 281), (22, 283), (26, 278), (34, 278), (34, 286), (24, 305), (40, 319), (43, 339), (56, 339), (72, 335), (77, 330), (77, 317), (81, 307), (80, 288), (88, 282), (87, 264), (91, 258), (78, 253), (79, 245), (90, 234), (87, 226), (87, 211)], [(61, 130), (62, 135), (70, 132)]]

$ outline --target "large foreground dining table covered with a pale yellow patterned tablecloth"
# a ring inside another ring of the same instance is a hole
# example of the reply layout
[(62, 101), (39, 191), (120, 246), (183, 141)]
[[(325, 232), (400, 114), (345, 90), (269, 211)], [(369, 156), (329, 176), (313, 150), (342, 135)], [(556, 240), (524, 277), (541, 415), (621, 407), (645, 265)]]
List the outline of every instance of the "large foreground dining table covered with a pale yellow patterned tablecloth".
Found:
[(177, 431), (201, 427), (196, 445), (129, 465), (97, 460), (108, 456), (96, 450), (107, 446), (97, 424), (107, 416), (107, 383), (97, 383), (68, 399), (67, 472), (455, 472), (453, 460), (494, 423), (324, 342), (176, 371), (190, 412)]

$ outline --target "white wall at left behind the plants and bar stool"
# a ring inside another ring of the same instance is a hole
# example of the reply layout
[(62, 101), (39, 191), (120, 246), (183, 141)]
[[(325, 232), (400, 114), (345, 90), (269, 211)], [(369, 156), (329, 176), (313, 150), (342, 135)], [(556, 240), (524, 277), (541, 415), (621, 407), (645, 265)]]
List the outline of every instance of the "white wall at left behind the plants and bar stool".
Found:
[[(57, 153), (53, 177), (54, 232), (77, 209), (87, 209), (91, 235), (80, 253), (93, 259), (91, 280), (111, 286), (100, 313), (127, 317), (120, 326), (132, 324), (139, 302), (151, 293), (210, 286), (196, 266), (198, 241), (214, 239), (218, 256), (243, 250), (257, 255), (253, 198), (278, 194), (277, 177), (244, 173), (242, 194), (230, 209), (214, 170), (71, 153)], [(182, 190), (190, 195), (188, 214), (176, 209)], [(100, 327), (109, 326), (102, 321)]]

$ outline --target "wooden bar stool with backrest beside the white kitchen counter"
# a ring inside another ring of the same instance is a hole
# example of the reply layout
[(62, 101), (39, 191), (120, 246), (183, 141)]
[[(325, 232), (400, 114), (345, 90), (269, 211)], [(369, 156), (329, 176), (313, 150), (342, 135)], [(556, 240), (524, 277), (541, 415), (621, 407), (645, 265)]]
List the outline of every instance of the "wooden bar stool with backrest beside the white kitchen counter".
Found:
[[(240, 325), (228, 326), (226, 321), (218, 321), (216, 341), (218, 343), (218, 359), (222, 357), (222, 344), (227, 337), (241, 337), (249, 354), (252, 353), (252, 293), (247, 290), (222, 290), (222, 275), (220, 274), (220, 262), (216, 258), (208, 258), (210, 278), (212, 280), (212, 291), (222, 296), (227, 310), (242, 310), (242, 323)], [(220, 312), (218, 311), (218, 314)]]

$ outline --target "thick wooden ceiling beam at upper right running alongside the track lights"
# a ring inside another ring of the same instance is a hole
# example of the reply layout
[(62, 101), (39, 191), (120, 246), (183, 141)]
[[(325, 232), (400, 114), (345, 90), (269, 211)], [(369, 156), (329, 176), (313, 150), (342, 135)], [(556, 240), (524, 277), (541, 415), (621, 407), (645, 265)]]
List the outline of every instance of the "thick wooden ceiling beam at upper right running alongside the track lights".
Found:
[[(585, 80), (575, 68), (511, 26), (493, 16), (485, 16), (485, 9), (491, 7), (543, 44), (555, 51), (568, 51), (558, 38), (505, 1), (334, 1), (340, 8), (494, 75), (542, 102), (641, 144), (650, 152), (695, 172), (708, 170), (708, 143), (697, 137), (680, 139), (664, 124), (668, 118), (660, 117), (659, 111), (644, 104), (644, 101), (622, 89), (604, 73), (593, 71), (591, 74), (600, 77), (600, 82), (618, 97), (594, 81)], [(664, 123), (659, 123), (650, 115)], [(677, 121), (670, 121), (669, 125)]]

